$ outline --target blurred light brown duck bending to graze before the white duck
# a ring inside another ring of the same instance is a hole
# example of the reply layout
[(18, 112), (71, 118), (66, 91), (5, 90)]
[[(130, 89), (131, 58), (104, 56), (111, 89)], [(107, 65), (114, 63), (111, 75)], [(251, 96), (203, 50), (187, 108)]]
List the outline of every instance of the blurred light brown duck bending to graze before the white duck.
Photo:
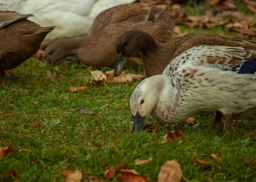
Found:
[(94, 20), (87, 36), (58, 40), (45, 48), (55, 62), (76, 55), (85, 66), (111, 66), (117, 59), (117, 38), (131, 29), (151, 33), (159, 42), (170, 40), (173, 28), (184, 9), (167, 9), (165, 4), (124, 4), (107, 9)]

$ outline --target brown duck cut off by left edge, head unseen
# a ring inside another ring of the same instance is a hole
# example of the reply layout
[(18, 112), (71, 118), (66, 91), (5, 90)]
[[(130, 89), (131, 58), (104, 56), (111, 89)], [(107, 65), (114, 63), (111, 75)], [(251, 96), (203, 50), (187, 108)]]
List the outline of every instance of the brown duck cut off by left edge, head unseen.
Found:
[(1, 80), (5, 70), (16, 68), (40, 48), (44, 37), (54, 27), (41, 27), (27, 20), (32, 15), (0, 11), (0, 72)]

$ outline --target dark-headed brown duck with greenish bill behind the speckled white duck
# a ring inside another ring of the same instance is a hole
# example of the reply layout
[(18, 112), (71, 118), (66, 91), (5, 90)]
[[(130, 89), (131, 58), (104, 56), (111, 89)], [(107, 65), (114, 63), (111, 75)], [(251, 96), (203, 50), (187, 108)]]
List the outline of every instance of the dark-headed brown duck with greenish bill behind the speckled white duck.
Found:
[[(248, 50), (256, 51), (255, 41), (241, 40), (213, 33), (200, 33), (166, 43), (159, 43), (146, 32), (131, 30), (123, 33), (123, 35), (118, 37), (116, 41), (116, 52), (118, 58), (114, 74), (118, 76), (123, 71), (128, 57), (138, 50), (142, 52), (146, 76), (150, 77), (162, 74), (166, 66), (176, 58), (176, 56), (189, 48), (208, 45), (244, 47)], [(215, 129), (222, 130), (221, 120), (222, 114), (217, 112), (213, 126)]]

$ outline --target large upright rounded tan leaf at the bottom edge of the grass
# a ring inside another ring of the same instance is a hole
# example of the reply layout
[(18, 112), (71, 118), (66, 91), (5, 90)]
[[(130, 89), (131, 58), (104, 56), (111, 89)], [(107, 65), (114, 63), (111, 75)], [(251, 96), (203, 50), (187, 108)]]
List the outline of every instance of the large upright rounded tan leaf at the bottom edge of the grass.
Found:
[(182, 179), (182, 170), (178, 159), (173, 159), (172, 161), (166, 161), (158, 173), (158, 182), (180, 182)]

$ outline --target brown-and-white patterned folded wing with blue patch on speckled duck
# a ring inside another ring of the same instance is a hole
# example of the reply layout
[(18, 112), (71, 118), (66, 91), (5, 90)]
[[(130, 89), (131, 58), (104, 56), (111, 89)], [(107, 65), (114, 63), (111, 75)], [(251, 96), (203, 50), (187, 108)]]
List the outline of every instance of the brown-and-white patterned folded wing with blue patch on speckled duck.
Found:
[(254, 74), (256, 71), (256, 51), (246, 50), (243, 47), (197, 46), (174, 58), (164, 72), (172, 76), (181, 66), (190, 65)]

